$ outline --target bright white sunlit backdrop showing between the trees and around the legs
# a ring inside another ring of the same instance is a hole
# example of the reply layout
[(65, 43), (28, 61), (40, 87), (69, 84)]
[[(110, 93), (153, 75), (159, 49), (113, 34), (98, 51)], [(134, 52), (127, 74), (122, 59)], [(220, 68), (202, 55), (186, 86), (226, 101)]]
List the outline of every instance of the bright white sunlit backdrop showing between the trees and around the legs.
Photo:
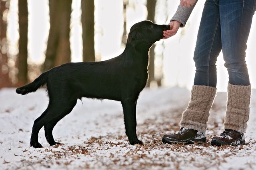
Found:
[[(71, 14), (70, 43), (72, 62), (82, 61), (82, 24), (81, 0), (73, 0)], [(156, 23), (167, 24), (178, 7), (179, 1), (158, 1), (156, 9)], [(129, 0), (127, 7), (127, 31), (130, 27), (142, 20), (146, 20), (146, 0)], [(185, 28), (165, 41), (156, 44), (156, 55), (162, 54), (164, 86), (182, 86), (191, 89), (194, 81), (195, 66), (193, 53), (196, 44), (197, 31), (201, 19), (204, 1), (199, 1), (192, 12)], [(95, 54), (96, 60), (106, 60), (120, 55), (123, 51), (121, 45), (123, 33), (123, 5), (121, 0), (95, 0)], [(18, 0), (11, 0), (8, 14), (8, 39), (10, 40), (10, 54), (16, 55), (18, 48)], [(49, 8), (48, 0), (28, 0), (28, 63), (42, 64), (45, 58), (46, 43), (48, 39)], [(246, 61), (253, 88), (256, 88), (256, 17), (254, 16)], [(164, 44), (162, 51), (161, 44)], [(156, 61), (158, 62), (158, 61)], [(157, 64), (157, 63), (156, 63)], [(228, 72), (224, 67), (222, 53), (217, 61), (218, 91), (226, 91)]]

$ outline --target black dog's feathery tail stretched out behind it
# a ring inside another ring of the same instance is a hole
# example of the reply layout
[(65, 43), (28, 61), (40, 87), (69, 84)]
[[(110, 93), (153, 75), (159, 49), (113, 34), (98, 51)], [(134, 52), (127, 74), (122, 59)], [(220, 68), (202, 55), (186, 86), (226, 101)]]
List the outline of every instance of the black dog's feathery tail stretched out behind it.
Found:
[(17, 88), (16, 93), (24, 95), (30, 92), (35, 92), (38, 88), (46, 84), (48, 74), (49, 71), (42, 73), (36, 80), (34, 80), (34, 82)]

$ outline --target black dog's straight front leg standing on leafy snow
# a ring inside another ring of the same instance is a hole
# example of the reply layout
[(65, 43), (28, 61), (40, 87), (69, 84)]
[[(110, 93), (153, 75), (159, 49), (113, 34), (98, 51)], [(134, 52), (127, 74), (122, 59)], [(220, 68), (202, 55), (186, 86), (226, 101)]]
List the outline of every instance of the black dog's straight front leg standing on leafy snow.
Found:
[(142, 144), (142, 141), (138, 140), (136, 134), (136, 101), (125, 100), (122, 101), (124, 110), (124, 125), (126, 135), (128, 136), (131, 145)]

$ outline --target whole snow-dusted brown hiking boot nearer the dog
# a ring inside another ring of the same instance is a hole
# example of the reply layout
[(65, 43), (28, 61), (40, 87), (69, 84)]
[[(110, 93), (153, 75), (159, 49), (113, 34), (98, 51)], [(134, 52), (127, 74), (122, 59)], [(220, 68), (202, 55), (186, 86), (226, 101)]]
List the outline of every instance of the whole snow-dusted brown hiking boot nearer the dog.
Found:
[(183, 144), (205, 144), (206, 137), (204, 132), (194, 129), (181, 128), (174, 134), (165, 134), (162, 137), (163, 143), (183, 143)]

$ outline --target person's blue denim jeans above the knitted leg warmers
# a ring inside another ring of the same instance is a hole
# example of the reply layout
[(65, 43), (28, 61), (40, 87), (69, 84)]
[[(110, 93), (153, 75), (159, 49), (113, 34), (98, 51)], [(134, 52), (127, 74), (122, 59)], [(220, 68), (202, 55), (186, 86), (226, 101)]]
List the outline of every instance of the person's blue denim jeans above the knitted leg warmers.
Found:
[(216, 87), (221, 49), (229, 83), (250, 85), (245, 51), (255, 10), (256, 0), (206, 0), (194, 51), (194, 85)]

